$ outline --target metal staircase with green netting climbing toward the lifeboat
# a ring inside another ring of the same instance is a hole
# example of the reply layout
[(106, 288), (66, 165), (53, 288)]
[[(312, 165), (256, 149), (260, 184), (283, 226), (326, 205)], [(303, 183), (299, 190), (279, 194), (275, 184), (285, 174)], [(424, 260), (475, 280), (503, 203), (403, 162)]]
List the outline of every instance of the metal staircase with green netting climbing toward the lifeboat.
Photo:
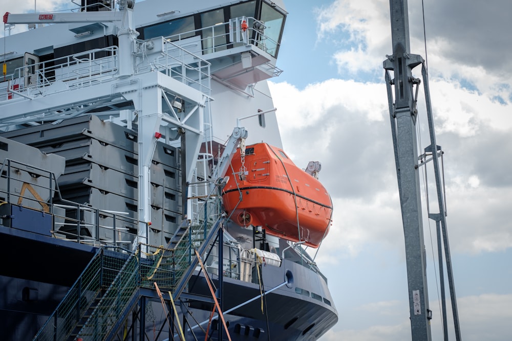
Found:
[(178, 298), (224, 220), (219, 197), (184, 221), (167, 247), (140, 244), (135, 253), (100, 247), (33, 340), (110, 340), (140, 299), (141, 288), (161, 289)]

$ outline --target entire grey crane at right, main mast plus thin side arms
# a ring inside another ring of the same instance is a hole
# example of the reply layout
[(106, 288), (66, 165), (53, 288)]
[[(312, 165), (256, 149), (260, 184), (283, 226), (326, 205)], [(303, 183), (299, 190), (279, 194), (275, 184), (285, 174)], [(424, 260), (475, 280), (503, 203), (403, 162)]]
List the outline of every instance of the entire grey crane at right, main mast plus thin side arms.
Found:
[[(407, 0), (390, 0), (390, 14), (393, 54), (387, 56), (387, 59), (383, 62), (383, 67), (386, 70), (386, 86), (388, 91), (393, 149), (406, 246), (412, 340), (430, 341), (432, 339), (430, 325), (432, 310), (429, 309), (428, 285), (426, 280), (419, 177), (421, 167), (426, 167), (430, 161), (433, 161), (439, 213), (431, 214), (429, 212), (429, 218), (436, 221), (438, 234), (437, 244), (444, 340), (448, 339), (448, 331), (446, 303), (444, 299), (443, 249), (441, 245), (444, 246), (444, 259), (447, 277), (449, 278), (455, 336), (457, 340), (460, 340), (455, 285), (446, 231), (445, 201), (441, 184), (439, 159), (443, 152), (441, 147), (436, 144), (428, 73), (423, 58), (410, 53)], [(418, 122), (417, 99), (421, 80), (414, 78), (412, 75), (412, 70), (418, 65), (422, 65), (426, 115), (430, 131), (430, 145), (424, 149), (424, 153), (421, 155), (418, 155), (416, 136), (416, 125)], [(390, 71), (393, 72), (393, 79), (391, 78)], [(394, 87), (394, 91), (392, 87)], [(427, 157), (429, 157), (428, 160)]]

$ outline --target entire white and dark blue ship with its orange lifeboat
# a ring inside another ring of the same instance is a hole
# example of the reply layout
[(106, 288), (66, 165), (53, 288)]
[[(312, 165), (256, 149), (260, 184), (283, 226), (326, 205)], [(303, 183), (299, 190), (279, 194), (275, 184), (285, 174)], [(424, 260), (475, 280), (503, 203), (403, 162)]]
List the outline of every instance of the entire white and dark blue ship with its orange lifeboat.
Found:
[(0, 338), (319, 339), (332, 202), (282, 148), (284, 3), (66, 8), (3, 17)]

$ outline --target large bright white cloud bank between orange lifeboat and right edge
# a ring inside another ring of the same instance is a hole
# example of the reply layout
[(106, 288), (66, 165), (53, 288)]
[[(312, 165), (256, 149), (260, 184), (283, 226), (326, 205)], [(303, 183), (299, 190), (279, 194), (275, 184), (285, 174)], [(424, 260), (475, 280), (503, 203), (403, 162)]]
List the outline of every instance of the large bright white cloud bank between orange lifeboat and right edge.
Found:
[[(313, 158), (322, 162), (320, 179), (333, 198), (333, 226), (318, 258), (336, 262), (331, 255), (340, 245), (347, 256), (367, 243), (396, 246), (403, 232), (385, 85), (331, 79), (303, 90), (270, 87), (285, 150), (300, 167)], [(465, 253), (511, 247), (512, 172), (503, 156), (512, 154), (512, 105), (441, 79), (431, 89), (452, 247)], [(424, 118), (421, 103), (419, 110)], [(421, 128), (424, 148), (428, 126)]]

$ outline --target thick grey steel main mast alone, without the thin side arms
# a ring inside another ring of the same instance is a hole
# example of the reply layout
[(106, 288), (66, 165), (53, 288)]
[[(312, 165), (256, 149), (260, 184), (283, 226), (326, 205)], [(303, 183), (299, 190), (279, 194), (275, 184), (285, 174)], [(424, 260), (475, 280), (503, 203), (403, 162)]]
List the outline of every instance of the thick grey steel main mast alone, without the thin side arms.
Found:
[[(390, 115), (403, 233), (406, 246), (409, 310), (413, 341), (431, 340), (429, 295), (426, 284), (425, 247), (421, 216), (418, 152), (416, 144), (416, 99), (412, 69), (423, 58), (410, 54), (407, 0), (390, 0), (393, 55), (384, 62), (386, 73), (393, 71), (394, 103)], [(388, 77), (387, 77), (388, 78)], [(393, 98), (388, 86), (388, 98)]]

